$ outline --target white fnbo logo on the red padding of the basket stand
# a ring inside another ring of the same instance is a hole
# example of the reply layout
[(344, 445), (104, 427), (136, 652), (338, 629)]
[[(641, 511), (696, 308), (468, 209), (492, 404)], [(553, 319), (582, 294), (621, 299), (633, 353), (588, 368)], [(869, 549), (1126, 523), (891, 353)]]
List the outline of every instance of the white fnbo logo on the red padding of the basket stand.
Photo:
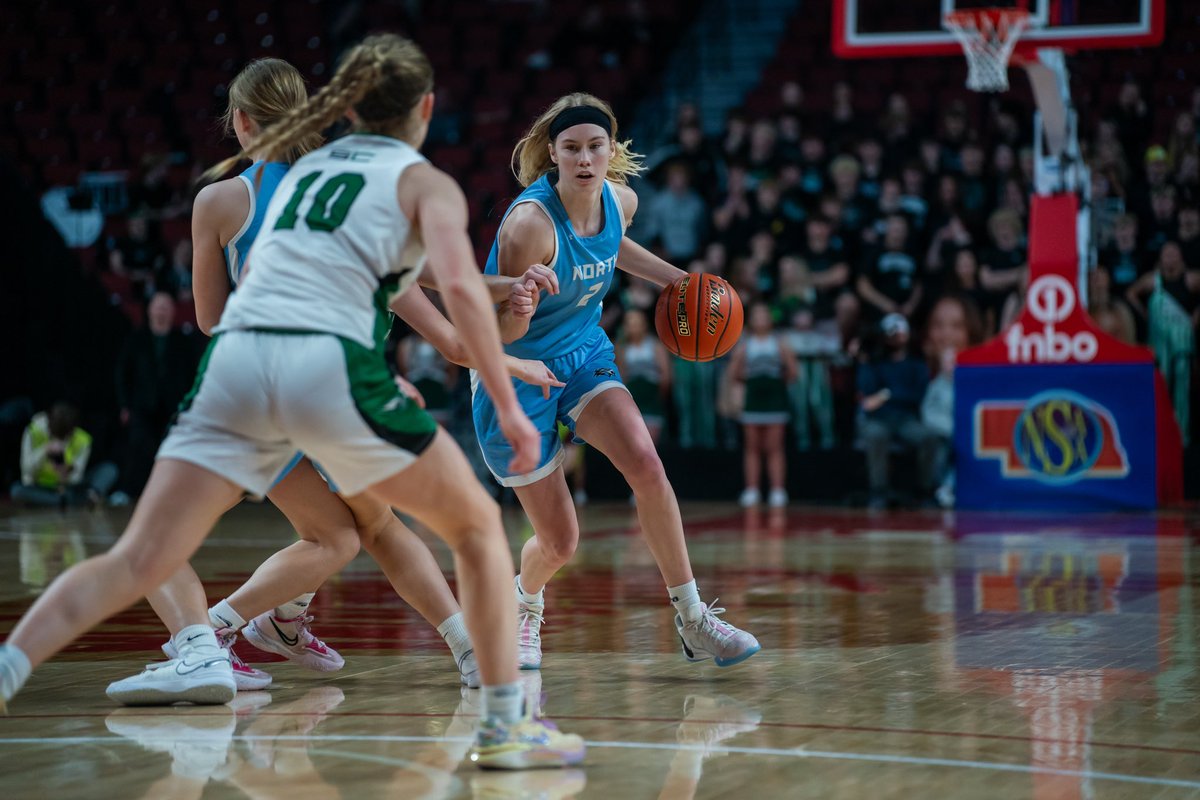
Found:
[(1055, 327), (1075, 311), (1075, 287), (1057, 275), (1043, 275), (1030, 285), (1025, 296), (1030, 314), (1042, 323), (1042, 330), (1025, 332), (1021, 323), (1004, 333), (1009, 363), (1064, 363), (1092, 361), (1100, 349), (1096, 335), (1084, 330), (1069, 335)]

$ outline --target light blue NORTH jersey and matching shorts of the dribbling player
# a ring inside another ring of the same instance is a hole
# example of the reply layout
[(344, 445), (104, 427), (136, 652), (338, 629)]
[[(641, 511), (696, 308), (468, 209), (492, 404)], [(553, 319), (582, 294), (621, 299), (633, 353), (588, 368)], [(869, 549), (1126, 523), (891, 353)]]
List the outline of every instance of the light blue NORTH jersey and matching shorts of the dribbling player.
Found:
[[(554, 255), (546, 266), (558, 275), (559, 293), (541, 296), (528, 332), (504, 349), (518, 359), (544, 361), (565, 386), (551, 389), (547, 398), (540, 386), (514, 379), (517, 402), (541, 434), (538, 467), (524, 475), (514, 475), (509, 471), (512, 449), (500, 431), (492, 398), (472, 380), (475, 435), (487, 468), (504, 486), (528, 486), (552, 475), (563, 463), (558, 425), (574, 434), (588, 403), (610, 389), (625, 390), (612, 342), (600, 327), (600, 301), (608, 293), (617, 269), (617, 251), (625, 233), (624, 215), (607, 181), (601, 198), (604, 228), (595, 236), (575, 234), (550, 176), (538, 179), (509, 209), (511, 213), (522, 203), (535, 203), (550, 217), (554, 225)], [(492, 245), (485, 272), (497, 275), (498, 260), (499, 237)]]

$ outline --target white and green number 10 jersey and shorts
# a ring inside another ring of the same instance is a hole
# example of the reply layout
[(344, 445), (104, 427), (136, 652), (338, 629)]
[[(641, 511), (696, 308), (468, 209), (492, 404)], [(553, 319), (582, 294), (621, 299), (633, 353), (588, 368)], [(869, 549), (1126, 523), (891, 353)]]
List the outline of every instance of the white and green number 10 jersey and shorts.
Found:
[(437, 423), (397, 389), (382, 347), (389, 299), (424, 265), (396, 200), (424, 162), (355, 134), (292, 167), (160, 457), (263, 494), (299, 450), (356, 494), (430, 445)]

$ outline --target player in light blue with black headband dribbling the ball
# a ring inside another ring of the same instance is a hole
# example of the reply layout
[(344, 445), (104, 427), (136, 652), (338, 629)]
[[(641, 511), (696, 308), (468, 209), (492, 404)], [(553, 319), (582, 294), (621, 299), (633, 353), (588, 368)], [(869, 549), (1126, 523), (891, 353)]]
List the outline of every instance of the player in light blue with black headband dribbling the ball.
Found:
[(528, 473), (508, 469), (512, 451), (491, 398), (481, 391), (473, 398), (484, 458), (496, 479), (514, 488), (535, 531), (521, 551), (516, 576), (521, 667), (541, 666), (544, 587), (580, 536), (556, 422), (607, 456), (632, 488), (642, 531), (677, 610), (684, 656), (713, 658), (719, 667), (739, 663), (758, 651), (758, 642), (720, 619), (724, 609), (701, 601), (674, 491), (600, 327), (600, 301), (617, 267), (658, 285), (684, 275), (625, 237), (637, 210), (625, 181), (640, 170), (640, 157), (617, 139), (607, 103), (574, 94), (533, 124), (512, 160), (526, 190), (502, 221), (485, 272), (516, 277), (545, 265), (558, 276), (559, 291), (544, 295), (532, 282), (514, 284), (499, 307), (500, 337), (510, 355), (541, 359), (566, 383), (548, 397), (516, 386), (541, 434), (538, 467)]

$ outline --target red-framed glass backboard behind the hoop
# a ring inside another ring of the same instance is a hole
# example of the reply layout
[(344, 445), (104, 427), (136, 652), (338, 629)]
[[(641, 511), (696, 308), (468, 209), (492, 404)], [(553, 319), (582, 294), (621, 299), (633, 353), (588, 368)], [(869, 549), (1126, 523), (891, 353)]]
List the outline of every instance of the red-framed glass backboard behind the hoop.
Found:
[(1031, 25), (1020, 47), (1099, 49), (1163, 41), (1166, 0), (834, 0), (833, 52), (844, 59), (961, 55), (942, 17), (954, 10), (1020, 6)]

